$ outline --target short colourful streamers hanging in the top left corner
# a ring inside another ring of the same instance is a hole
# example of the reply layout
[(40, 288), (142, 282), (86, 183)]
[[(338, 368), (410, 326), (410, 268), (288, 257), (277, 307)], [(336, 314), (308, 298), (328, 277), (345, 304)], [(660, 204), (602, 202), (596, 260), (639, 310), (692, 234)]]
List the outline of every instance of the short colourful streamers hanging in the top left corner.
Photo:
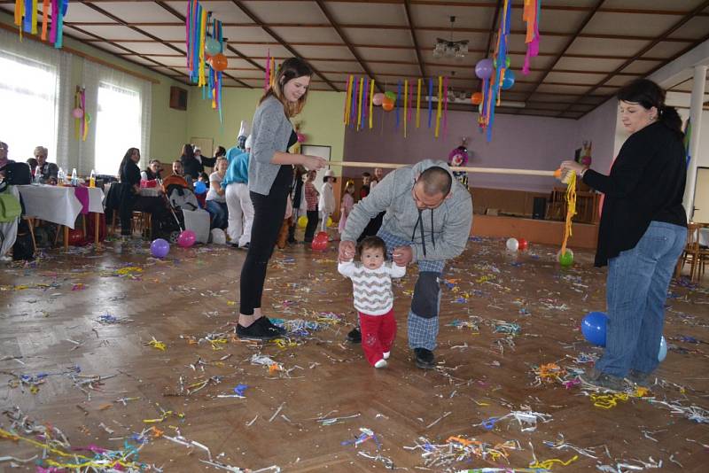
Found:
[[(19, 39), (22, 35), (37, 35), (39, 23), (40, 0), (15, 0), (15, 26), (19, 29)], [(60, 49), (64, 44), (64, 17), (69, 9), (69, 0), (42, 1), (42, 41), (54, 44)], [(50, 26), (51, 17), (51, 26)], [(49, 35), (47, 35), (49, 31)]]

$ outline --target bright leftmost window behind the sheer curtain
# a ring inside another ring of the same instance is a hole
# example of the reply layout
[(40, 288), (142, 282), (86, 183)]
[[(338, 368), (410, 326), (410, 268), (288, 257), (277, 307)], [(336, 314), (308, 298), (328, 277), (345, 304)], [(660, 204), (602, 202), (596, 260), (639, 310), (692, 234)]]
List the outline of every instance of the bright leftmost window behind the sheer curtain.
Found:
[(26, 161), (35, 146), (57, 156), (58, 71), (44, 64), (0, 50), (0, 140), (8, 143), (9, 159)]

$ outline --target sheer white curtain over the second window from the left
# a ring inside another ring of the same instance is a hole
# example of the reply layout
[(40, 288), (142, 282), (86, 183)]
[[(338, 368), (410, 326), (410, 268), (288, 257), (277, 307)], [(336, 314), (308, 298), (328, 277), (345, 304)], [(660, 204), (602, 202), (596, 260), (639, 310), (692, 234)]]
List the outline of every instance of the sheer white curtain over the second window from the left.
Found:
[[(129, 74), (122, 73), (121, 71), (116, 71), (110, 67), (101, 66), (88, 59), (83, 59), (83, 73), (82, 73), (83, 87), (86, 88), (86, 110), (90, 113), (92, 122), (90, 123), (89, 134), (86, 138), (86, 142), (82, 142), (79, 147), (78, 153), (78, 168), (81, 174), (89, 174), (91, 169), (97, 167), (97, 159), (101, 159), (101, 156), (96, 156), (96, 129), (97, 127), (109, 126), (106, 123), (99, 123), (98, 120), (98, 110), (97, 110), (97, 100), (98, 100), (98, 89), (101, 84), (110, 84), (116, 89), (126, 89), (132, 92), (137, 92), (140, 100), (139, 107), (139, 117), (136, 117), (133, 112), (127, 113), (124, 117), (126, 122), (129, 120), (139, 120), (140, 121), (140, 137), (139, 143), (129, 143), (129, 147), (136, 147), (140, 149), (141, 152), (141, 162), (139, 166), (145, 167), (145, 160), (150, 157), (150, 123), (151, 123), (151, 113), (152, 113), (152, 84), (150, 81), (144, 81), (143, 79), (138, 79), (137, 77)], [(113, 133), (121, 134), (121, 125), (115, 124), (110, 125), (112, 127)], [(123, 157), (126, 150), (128, 149), (111, 149), (104, 150), (102, 152), (109, 152), (113, 156)], [(113, 154), (115, 153), (115, 154)], [(111, 174), (118, 174), (118, 168)]]

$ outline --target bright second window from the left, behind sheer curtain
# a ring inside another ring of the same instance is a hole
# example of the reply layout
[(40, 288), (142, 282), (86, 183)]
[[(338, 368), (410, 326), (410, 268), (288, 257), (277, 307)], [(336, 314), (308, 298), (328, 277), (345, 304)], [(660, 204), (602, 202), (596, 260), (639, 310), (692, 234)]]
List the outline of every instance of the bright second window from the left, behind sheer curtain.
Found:
[(97, 174), (118, 174), (125, 152), (141, 147), (141, 111), (137, 90), (99, 82), (95, 118)]

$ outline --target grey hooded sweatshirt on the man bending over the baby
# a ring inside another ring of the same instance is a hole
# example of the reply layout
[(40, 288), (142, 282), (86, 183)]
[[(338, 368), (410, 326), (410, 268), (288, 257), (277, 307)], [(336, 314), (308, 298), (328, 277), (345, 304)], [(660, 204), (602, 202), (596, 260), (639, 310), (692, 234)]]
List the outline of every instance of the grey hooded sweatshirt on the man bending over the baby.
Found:
[(356, 241), (370, 219), (386, 211), (382, 231), (413, 241), (414, 260), (449, 260), (462, 253), (472, 224), (472, 198), (468, 190), (451, 174), (452, 195), (438, 208), (420, 211), (411, 195), (417, 174), (435, 166), (451, 174), (445, 162), (432, 159), (386, 174), (369, 196), (354, 205), (347, 216), (342, 240)]

